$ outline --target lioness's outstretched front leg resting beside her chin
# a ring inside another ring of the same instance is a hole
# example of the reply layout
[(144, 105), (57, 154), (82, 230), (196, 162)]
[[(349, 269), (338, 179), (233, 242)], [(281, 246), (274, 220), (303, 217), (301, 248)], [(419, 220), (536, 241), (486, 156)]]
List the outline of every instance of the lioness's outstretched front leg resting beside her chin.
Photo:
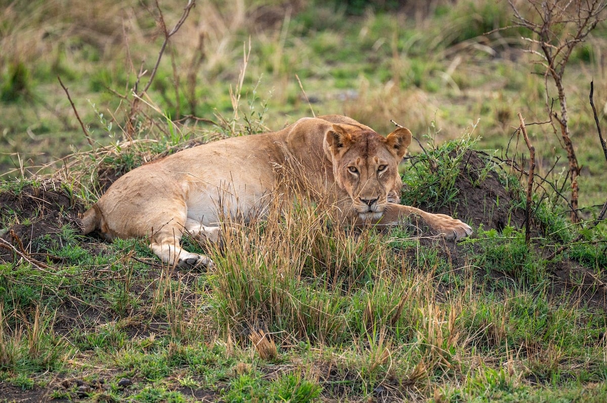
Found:
[(447, 239), (461, 239), (472, 234), (472, 227), (456, 218), (444, 214), (433, 214), (409, 205), (388, 203), (384, 216), (379, 224), (398, 225), (402, 221), (411, 221), (419, 218), (433, 231), (438, 232)]

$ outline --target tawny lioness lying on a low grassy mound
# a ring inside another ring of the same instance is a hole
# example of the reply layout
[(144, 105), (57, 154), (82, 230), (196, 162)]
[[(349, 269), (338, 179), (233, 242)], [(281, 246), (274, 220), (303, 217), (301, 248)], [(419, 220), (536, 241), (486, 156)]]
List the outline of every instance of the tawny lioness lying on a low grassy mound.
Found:
[(411, 139), (406, 128), (384, 138), (354, 119), (329, 115), (198, 145), (121, 176), (84, 213), (84, 233), (149, 236), (164, 263), (209, 266), (207, 256), (180, 247), (184, 233), (217, 241), (222, 217), (263, 216), (271, 198), (293, 202), (292, 189), (300, 188), (311, 201), (330, 202), (342, 222), (394, 225), (416, 216), (448, 239), (470, 235), (458, 219), (398, 204), (397, 168)]

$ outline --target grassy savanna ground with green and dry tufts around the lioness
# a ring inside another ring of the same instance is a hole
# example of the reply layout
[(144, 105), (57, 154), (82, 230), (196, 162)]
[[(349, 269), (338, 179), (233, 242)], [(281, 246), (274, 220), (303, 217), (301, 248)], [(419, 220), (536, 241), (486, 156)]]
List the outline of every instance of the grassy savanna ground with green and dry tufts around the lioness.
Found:
[[(563, 76), (574, 224), (545, 123), (558, 96), (532, 34), (496, 30), (507, 2), (199, 1), (150, 81), (186, 3), (3, 5), (0, 399), (607, 400), (607, 161), (589, 104), (594, 80), (604, 125), (604, 22)], [(145, 239), (80, 235), (121, 173), (313, 113), (409, 127), (402, 201), (475, 234), (338, 228), (301, 205), (224, 248), (191, 241), (210, 272), (161, 265)]]

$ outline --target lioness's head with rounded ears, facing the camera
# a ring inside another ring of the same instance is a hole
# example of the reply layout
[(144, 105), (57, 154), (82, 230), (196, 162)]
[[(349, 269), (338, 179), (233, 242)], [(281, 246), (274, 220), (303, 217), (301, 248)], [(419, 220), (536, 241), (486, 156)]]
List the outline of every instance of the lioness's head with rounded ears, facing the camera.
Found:
[(394, 202), (402, 181), (398, 164), (411, 144), (409, 129), (399, 127), (385, 138), (367, 127), (334, 124), (324, 140), (337, 185), (351, 198), (364, 220), (381, 218)]

